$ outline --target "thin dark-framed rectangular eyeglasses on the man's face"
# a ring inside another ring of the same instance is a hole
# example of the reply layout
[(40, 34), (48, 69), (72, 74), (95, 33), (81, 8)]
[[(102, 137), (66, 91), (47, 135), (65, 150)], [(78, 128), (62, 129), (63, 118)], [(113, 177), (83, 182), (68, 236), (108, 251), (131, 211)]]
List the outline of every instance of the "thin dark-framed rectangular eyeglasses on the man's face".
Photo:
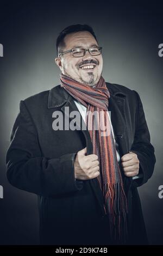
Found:
[(68, 50), (65, 52), (60, 52), (58, 54), (58, 57), (60, 56), (60, 54), (67, 53), (67, 52), (71, 52), (73, 57), (83, 57), (83, 56), (85, 56), (86, 51), (89, 51), (89, 53), (92, 56), (97, 56), (102, 53), (102, 47), (95, 46), (95, 47), (91, 47), (89, 49), (75, 48), (75, 49), (71, 49), (71, 50)]

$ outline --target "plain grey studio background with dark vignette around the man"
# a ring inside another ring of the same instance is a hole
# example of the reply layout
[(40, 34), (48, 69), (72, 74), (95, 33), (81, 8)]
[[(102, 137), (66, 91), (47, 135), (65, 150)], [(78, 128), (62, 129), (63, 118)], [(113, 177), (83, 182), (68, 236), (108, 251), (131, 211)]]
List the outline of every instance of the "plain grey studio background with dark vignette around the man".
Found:
[(163, 199), (158, 198), (162, 176), (162, 14), (159, 1), (15, 1), (0, 2), (1, 136), (0, 244), (33, 245), (39, 242), (36, 195), (12, 187), (6, 178), (5, 154), (20, 100), (59, 84), (54, 63), (55, 40), (75, 23), (91, 25), (103, 47), (103, 77), (136, 90), (142, 100), (155, 147), (152, 178), (139, 188), (148, 238), (163, 244)]

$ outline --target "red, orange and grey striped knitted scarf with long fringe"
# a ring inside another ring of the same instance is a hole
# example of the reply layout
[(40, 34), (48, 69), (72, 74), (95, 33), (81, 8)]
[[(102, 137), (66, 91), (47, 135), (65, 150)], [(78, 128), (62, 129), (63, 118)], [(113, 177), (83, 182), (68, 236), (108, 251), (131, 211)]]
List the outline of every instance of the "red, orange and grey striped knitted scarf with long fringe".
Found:
[(86, 126), (93, 154), (98, 156), (100, 175), (97, 179), (103, 193), (105, 214), (109, 217), (110, 236), (115, 244), (124, 244), (127, 239), (127, 199), (108, 117), (109, 90), (102, 76), (95, 87), (81, 84), (64, 74), (60, 74), (60, 82), (74, 99), (87, 107)]

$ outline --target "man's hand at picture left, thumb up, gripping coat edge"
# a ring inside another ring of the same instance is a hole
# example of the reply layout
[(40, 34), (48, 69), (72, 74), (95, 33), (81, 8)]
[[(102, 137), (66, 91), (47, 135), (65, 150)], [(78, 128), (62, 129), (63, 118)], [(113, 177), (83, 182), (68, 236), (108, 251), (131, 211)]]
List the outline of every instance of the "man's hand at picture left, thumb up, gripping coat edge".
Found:
[(99, 161), (95, 154), (86, 155), (86, 148), (78, 151), (74, 161), (74, 175), (78, 180), (90, 180), (99, 175)]

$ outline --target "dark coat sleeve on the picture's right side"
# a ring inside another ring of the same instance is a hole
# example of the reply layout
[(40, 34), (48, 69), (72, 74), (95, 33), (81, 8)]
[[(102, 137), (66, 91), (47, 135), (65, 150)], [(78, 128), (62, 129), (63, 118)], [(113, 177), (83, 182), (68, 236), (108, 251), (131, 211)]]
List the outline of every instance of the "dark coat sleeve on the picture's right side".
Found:
[(134, 142), (130, 151), (136, 153), (139, 159), (139, 174), (142, 174), (142, 178), (133, 180), (133, 186), (139, 187), (151, 178), (156, 159), (140, 96), (133, 91), (137, 97), (137, 112)]

